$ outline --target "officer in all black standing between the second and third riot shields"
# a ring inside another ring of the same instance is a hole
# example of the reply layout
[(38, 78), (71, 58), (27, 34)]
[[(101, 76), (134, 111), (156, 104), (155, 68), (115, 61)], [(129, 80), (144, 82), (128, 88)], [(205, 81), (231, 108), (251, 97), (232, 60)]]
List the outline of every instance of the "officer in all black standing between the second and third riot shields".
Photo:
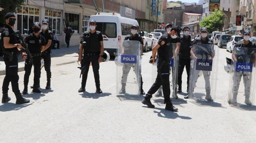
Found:
[(181, 38), (181, 48), (179, 51), (179, 69), (178, 69), (178, 91), (182, 92), (182, 73), (184, 67), (187, 71), (187, 92), (189, 86), (189, 73), (190, 73), (190, 49), (192, 45), (191, 37), (189, 35), (190, 29), (188, 26), (183, 27), (184, 36)]

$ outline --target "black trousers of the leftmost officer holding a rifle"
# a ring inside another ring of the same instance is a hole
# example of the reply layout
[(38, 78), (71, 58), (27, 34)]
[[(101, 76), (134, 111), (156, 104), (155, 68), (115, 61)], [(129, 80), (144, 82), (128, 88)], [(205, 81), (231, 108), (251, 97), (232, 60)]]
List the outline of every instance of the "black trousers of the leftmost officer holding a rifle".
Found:
[(9, 84), (12, 84), (12, 91), (15, 95), (20, 94), (19, 91), (19, 76), (18, 76), (18, 57), (17, 54), (13, 54), (12, 61), (9, 61), (8, 56), (4, 55), (5, 61), (5, 78), (2, 85), (3, 94), (7, 94), (9, 90)]

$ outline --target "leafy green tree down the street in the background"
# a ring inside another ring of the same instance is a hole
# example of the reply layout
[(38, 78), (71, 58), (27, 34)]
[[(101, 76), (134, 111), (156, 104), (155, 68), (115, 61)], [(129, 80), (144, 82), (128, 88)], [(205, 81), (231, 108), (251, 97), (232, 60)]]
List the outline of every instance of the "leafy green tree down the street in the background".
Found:
[(212, 12), (210, 16), (200, 21), (199, 25), (200, 27), (206, 27), (209, 33), (212, 33), (213, 31), (219, 31), (222, 29), (222, 26), (224, 24), (223, 15), (224, 14), (222, 10), (216, 9), (214, 12)]

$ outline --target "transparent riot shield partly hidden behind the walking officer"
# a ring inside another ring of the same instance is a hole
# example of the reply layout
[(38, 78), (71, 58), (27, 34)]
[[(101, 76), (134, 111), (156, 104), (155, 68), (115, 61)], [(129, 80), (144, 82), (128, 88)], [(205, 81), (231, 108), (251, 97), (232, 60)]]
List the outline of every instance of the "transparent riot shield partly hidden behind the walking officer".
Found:
[[(178, 55), (175, 54), (175, 50), (177, 48), (176, 43), (167, 43), (167, 46), (170, 48), (169, 49), (169, 65), (170, 65), (170, 90), (172, 97), (177, 97), (177, 80), (178, 80), (178, 66), (179, 66), (179, 61), (178, 61)], [(176, 52), (178, 53), (178, 52)], [(158, 61), (158, 59), (157, 59)], [(152, 84), (156, 81), (157, 78), (157, 67), (152, 66)], [(159, 88), (159, 90), (155, 93), (156, 97), (162, 96), (162, 86)]]

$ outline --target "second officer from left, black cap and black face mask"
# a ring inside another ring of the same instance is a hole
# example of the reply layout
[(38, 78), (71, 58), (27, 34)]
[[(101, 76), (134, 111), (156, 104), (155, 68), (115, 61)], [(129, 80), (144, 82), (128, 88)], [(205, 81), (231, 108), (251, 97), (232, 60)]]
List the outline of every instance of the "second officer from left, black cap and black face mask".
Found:
[(34, 84), (32, 92), (41, 93), (41, 90), (38, 89), (37, 85), (40, 83), (40, 76), (41, 76), (41, 49), (44, 48), (45, 39), (39, 33), (41, 29), (41, 24), (39, 22), (35, 22), (33, 27), (33, 33), (27, 36), (24, 41), (28, 43), (28, 49), (32, 56), (32, 62), (28, 58), (25, 62), (25, 75), (24, 75), (24, 90), (22, 94), (28, 94), (28, 83), (29, 83), (29, 76), (31, 73), (32, 64), (34, 66)]

